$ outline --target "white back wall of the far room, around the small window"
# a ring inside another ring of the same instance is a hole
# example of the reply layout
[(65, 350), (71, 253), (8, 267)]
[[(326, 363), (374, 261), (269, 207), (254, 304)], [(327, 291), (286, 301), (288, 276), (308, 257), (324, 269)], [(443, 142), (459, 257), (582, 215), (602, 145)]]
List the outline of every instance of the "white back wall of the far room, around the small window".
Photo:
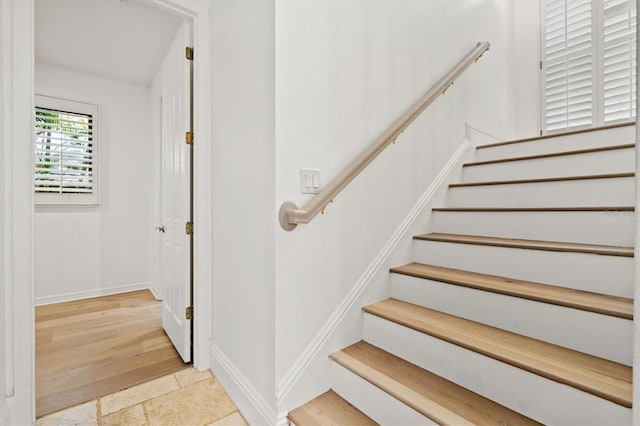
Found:
[(149, 89), (37, 64), (35, 92), (99, 106), (101, 200), (75, 211), (36, 208), (36, 302), (149, 287)]

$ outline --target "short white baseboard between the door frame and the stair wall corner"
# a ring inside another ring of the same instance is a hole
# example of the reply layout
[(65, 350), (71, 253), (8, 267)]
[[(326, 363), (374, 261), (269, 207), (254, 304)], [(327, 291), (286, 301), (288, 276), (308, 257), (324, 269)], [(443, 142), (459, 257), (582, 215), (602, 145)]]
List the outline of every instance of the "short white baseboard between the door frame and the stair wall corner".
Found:
[(252, 425), (275, 425), (275, 407), (270, 407), (251, 382), (215, 344), (209, 348), (210, 366), (245, 419)]

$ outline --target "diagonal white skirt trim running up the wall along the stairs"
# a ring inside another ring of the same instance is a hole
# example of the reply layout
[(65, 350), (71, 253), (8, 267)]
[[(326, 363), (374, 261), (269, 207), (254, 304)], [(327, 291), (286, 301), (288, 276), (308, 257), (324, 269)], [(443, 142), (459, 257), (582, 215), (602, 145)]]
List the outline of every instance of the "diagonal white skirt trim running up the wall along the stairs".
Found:
[(343, 322), (343, 319), (350, 312), (353, 312), (354, 310), (359, 311), (361, 309), (361, 306), (356, 305), (356, 302), (360, 300), (361, 295), (367, 290), (367, 287), (371, 284), (374, 277), (380, 272), (381, 268), (387, 264), (387, 260), (398, 248), (400, 242), (407, 238), (411, 238), (416, 220), (421, 217), (425, 209), (434, 202), (439, 189), (446, 187), (449, 183), (452, 175), (451, 172), (456, 168), (456, 166), (461, 164), (462, 158), (470, 146), (471, 144), (468, 140), (464, 140), (460, 144), (455, 153), (449, 158), (438, 175), (433, 179), (429, 187), (414, 204), (411, 211), (403, 219), (402, 223), (392, 234), (391, 238), (389, 238), (385, 243), (373, 261), (356, 281), (355, 285), (351, 288), (346, 297), (342, 302), (340, 302), (333, 314), (325, 322), (320, 331), (314, 336), (313, 340), (311, 340), (293, 366), (277, 384), (276, 401), (279, 403), (279, 408), (280, 403), (287, 397), (289, 392), (291, 392), (312, 361), (318, 356), (329, 355), (329, 353), (325, 353), (327, 351), (327, 348), (324, 348), (325, 344), (329, 341), (330, 337)]

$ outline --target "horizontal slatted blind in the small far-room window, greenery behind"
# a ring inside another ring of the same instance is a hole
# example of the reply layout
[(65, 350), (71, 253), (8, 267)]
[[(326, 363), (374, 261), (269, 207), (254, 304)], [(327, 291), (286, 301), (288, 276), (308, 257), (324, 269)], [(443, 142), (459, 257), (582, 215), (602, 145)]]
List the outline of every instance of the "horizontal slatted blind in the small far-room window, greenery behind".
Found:
[(92, 194), (94, 116), (35, 108), (35, 192)]

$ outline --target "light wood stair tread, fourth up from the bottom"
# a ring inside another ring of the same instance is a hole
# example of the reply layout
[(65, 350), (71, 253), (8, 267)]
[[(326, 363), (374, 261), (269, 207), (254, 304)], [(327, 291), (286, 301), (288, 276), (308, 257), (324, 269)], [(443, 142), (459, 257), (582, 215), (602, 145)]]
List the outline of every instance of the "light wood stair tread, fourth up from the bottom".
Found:
[[(415, 272), (415, 271), (409, 270), (409, 268), (412, 268), (412, 267), (413, 269), (415, 268), (431, 269), (431, 271)], [(467, 280), (463, 280), (462, 278), (446, 277), (446, 276), (443, 276), (442, 274), (438, 274), (437, 272), (433, 271), (433, 269), (439, 270), (440, 272), (449, 271), (449, 272), (454, 272), (456, 274), (468, 275), (468, 277), (467, 277)], [(593, 312), (601, 315), (608, 315), (608, 316), (622, 318), (626, 320), (633, 320), (633, 301), (631, 299), (624, 298), (624, 297), (610, 296), (606, 294), (575, 290), (575, 289), (570, 289), (566, 287), (554, 286), (550, 284), (542, 284), (542, 283), (536, 283), (532, 281), (519, 280), (515, 278), (512, 279), (512, 278), (500, 277), (496, 275), (464, 271), (464, 270), (454, 269), (454, 268), (445, 268), (445, 267), (435, 266), (435, 265), (424, 265), (417, 262), (391, 268), (390, 272), (395, 274), (415, 277), (415, 278), (438, 281), (438, 282), (451, 284), (451, 285), (457, 285), (461, 287), (467, 287), (467, 288), (471, 288), (479, 291), (487, 291), (491, 293), (497, 293), (497, 294), (502, 294), (502, 295), (511, 296), (511, 297), (518, 297), (521, 299), (527, 299), (527, 300), (532, 300), (532, 301), (541, 302), (541, 303), (548, 303), (552, 305), (563, 306), (563, 307), (578, 309), (578, 310), (587, 311), (587, 312)], [(474, 278), (476, 279), (474, 280)], [(496, 280), (498, 282), (503, 281), (503, 282), (512, 284), (513, 288), (512, 289), (497, 288), (498, 286), (491, 286), (490, 284), (484, 284), (479, 282), (478, 278), (485, 279), (487, 281), (489, 280)], [(534, 287), (534, 286), (540, 289), (555, 291), (556, 293), (559, 293), (559, 295), (564, 296), (564, 299), (561, 299), (560, 297), (551, 298), (547, 296), (540, 296), (540, 295), (532, 294), (532, 292), (530, 291), (528, 292), (522, 291), (523, 287), (527, 288), (527, 287)], [(568, 300), (570, 298), (569, 296), (578, 295), (578, 294), (581, 294), (584, 296), (592, 296), (594, 298), (602, 297), (602, 298), (607, 298), (609, 300), (613, 299), (613, 300), (624, 301), (625, 303), (629, 303), (631, 305), (631, 311), (629, 312), (623, 309), (603, 308), (603, 307), (596, 306), (595, 303), (588, 304), (586, 302), (580, 303), (580, 302)]]

